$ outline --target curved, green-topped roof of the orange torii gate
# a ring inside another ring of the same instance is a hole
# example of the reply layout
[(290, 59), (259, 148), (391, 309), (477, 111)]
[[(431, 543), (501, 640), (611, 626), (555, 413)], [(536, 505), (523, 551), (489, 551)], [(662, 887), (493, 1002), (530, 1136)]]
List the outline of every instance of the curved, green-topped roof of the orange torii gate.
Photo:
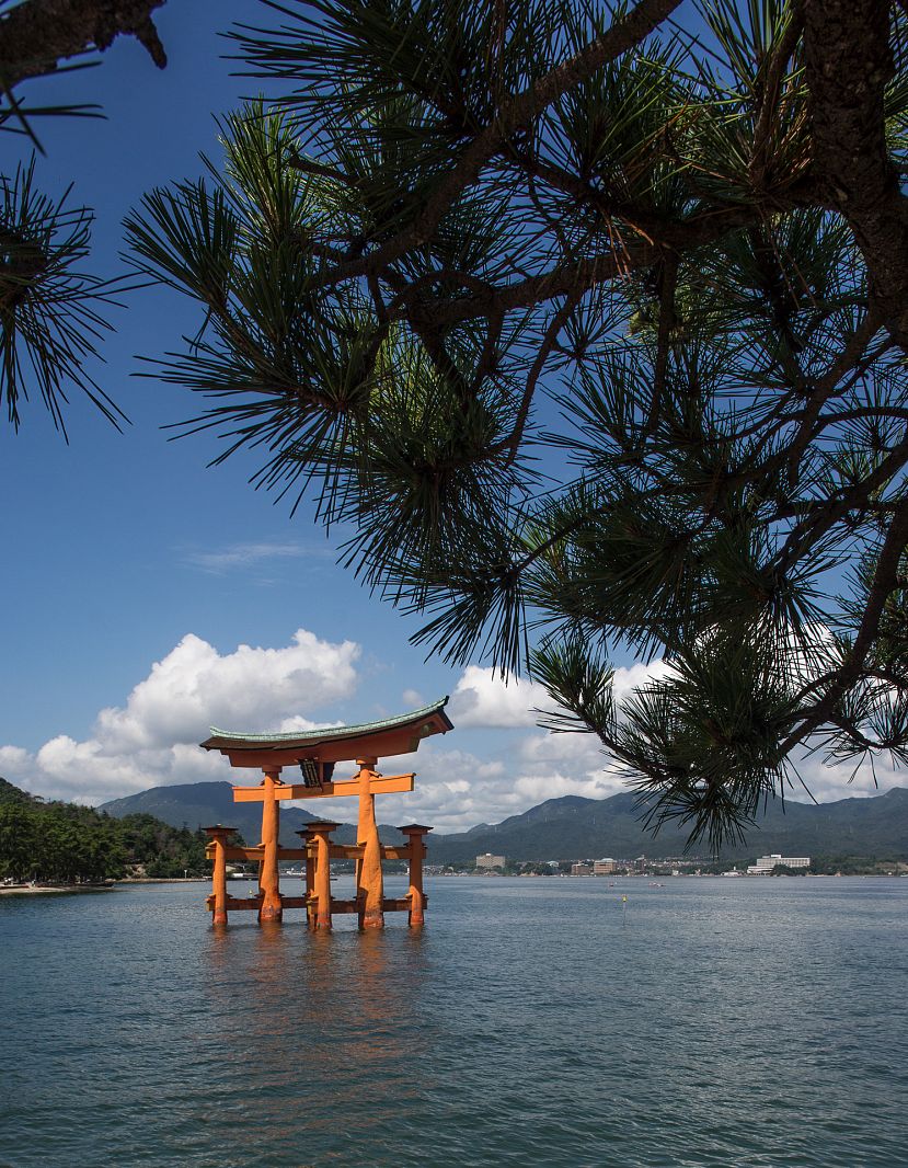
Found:
[(235, 734), (211, 726), (201, 745), (219, 750), (231, 766), (292, 766), (302, 759), (340, 763), (356, 758), (410, 755), (424, 738), (454, 729), (445, 714), (447, 697), (410, 714), (358, 726), (328, 726), (306, 734)]

